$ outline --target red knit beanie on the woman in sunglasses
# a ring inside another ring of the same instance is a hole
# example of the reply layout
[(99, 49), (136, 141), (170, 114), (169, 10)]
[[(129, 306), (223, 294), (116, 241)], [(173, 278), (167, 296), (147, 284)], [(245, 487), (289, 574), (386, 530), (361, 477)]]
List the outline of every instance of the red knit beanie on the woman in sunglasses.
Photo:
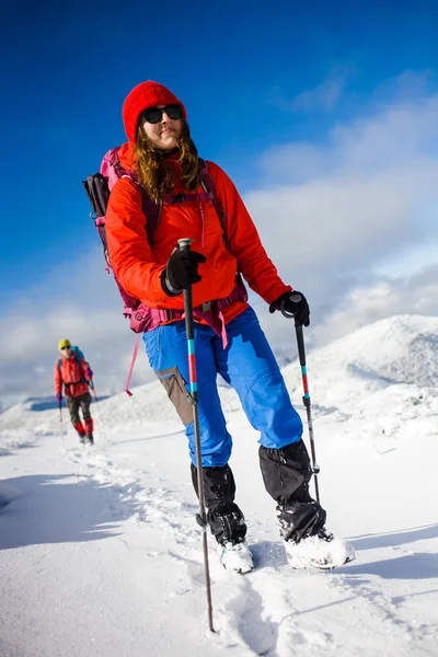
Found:
[(187, 118), (185, 107), (177, 97), (162, 84), (148, 80), (137, 84), (128, 93), (122, 110), (125, 132), (129, 141), (136, 142), (138, 118), (148, 107), (178, 104), (183, 108), (183, 117)]

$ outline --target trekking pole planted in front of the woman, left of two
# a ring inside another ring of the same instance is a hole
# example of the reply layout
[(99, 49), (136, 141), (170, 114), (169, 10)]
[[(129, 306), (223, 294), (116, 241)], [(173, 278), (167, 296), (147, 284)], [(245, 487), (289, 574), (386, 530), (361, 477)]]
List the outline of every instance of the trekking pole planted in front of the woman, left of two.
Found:
[[(181, 251), (189, 251), (193, 240), (184, 239), (178, 240), (178, 246)], [(210, 632), (215, 632), (212, 625), (212, 604), (211, 604), (211, 586), (210, 586), (210, 572), (208, 565), (208, 543), (207, 543), (207, 514), (205, 508), (205, 495), (204, 495), (204, 477), (203, 477), (203, 458), (199, 438), (199, 416), (198, 416), (198, 388), (196, 378), (196, 357), (195, 357), (195, 333), (193, 327), (193, 297), (192, 286), (184, 290), (184, 314), (185, 314), (185, 330), (187, 334), (187, 351), (188, 351), (188, 379), (189, 379), (189, 392), (188, 401), (193, 404), (193, 422), (195, 429), (195, 448), (196, 448), (196, 468), (198, 475), (198, 499), (199, 499), (199, 512), (196, 515), (196, 520), (203, 530), (203, 549), (204, 549), (204, 572), (206, 580), (206, 592), (207, 592), (207, 613), (208, 613), (208, 626)]]

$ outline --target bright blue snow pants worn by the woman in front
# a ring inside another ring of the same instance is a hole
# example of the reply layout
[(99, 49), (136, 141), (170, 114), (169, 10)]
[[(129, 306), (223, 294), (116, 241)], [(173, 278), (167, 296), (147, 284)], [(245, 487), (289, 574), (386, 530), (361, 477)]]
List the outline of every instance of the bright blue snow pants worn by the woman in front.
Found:
[[(280, 449), (297, 442), (302, 423), (293, 408), (281, 372), (252, 308), (227, 324), (228, 346), (195, 322), (199, 434), (203, 468), (228, 463), (232, 439), (220, 405), (217, 374), (237, 391), (247, 419), (261, 433), (260, 443)], [(196, 465), (193, 405), (187, 401), (188, 359), (185, 322), (158, 326), (143, 334), (149, 364), (163, 383), (186, 427), (191, 459)]]

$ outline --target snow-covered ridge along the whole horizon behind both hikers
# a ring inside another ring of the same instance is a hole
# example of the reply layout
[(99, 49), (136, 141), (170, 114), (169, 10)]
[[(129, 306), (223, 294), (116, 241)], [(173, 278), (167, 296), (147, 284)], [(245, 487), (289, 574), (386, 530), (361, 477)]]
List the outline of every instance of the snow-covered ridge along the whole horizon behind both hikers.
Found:
[[(423, 395), (424, 388), (437, 387), (438, 318), (396, 315), (369, 324), (330, 345), (308, 353), (309, 384), (315, 415), (319, 412), (341, 412), (360, 416), (366, 397), (392, 385), (403, 384), (403, 397)], [(302, 382), (299, 362), (295, 360), (283, 370), (293, 404), (301, 405)], [(405, 387), (411, 387), (406, 389)], [(96, 376), (99, 394), (99, 372)], [(414, 390), (415, 389), (415, 390)], [(152, 381), (104, 399), (93, 412), (111, 429), (123, 430), (127, 425), (141, 427), (145, 423), (178, 424), (161, 383)], [(429, 393), (430, 395), (431, 393)], [(240, 410), (233, 390), (220, 388), (226, 414)], [(391, 395), (389, 395), (391, 396)], [(392, 395), (396, 397), (396, 394)], [(424, 395), (423, 395), (424, 396)], [(0, 415), (0, 431), (47, 433), (59, 430), (59, 412), (54, 408), (35, 412), (30, 399), (8, 408)], [(44, 408), (41, 403), (39, 407)], [(68, 424), (68, 412), (64, 408)]]

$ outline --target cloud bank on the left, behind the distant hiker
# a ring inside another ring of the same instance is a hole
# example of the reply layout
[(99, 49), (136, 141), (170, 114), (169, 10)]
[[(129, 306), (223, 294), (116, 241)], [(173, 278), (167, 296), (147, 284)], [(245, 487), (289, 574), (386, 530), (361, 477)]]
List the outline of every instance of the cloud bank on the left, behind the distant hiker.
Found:
[[(97, 237), (96, 237), (97, 239)], [(59, 266), (47, 280), (21, 296), (0, 320), (0, 397), (53, 394), (57, 344), (68, 337), (90, 359), (100, 395), (124, 390), (135, 334), (122, 314), (123, 303), (104, 272), (101, 249)], [(132, 385), (153, 378), (142, 343)]]

